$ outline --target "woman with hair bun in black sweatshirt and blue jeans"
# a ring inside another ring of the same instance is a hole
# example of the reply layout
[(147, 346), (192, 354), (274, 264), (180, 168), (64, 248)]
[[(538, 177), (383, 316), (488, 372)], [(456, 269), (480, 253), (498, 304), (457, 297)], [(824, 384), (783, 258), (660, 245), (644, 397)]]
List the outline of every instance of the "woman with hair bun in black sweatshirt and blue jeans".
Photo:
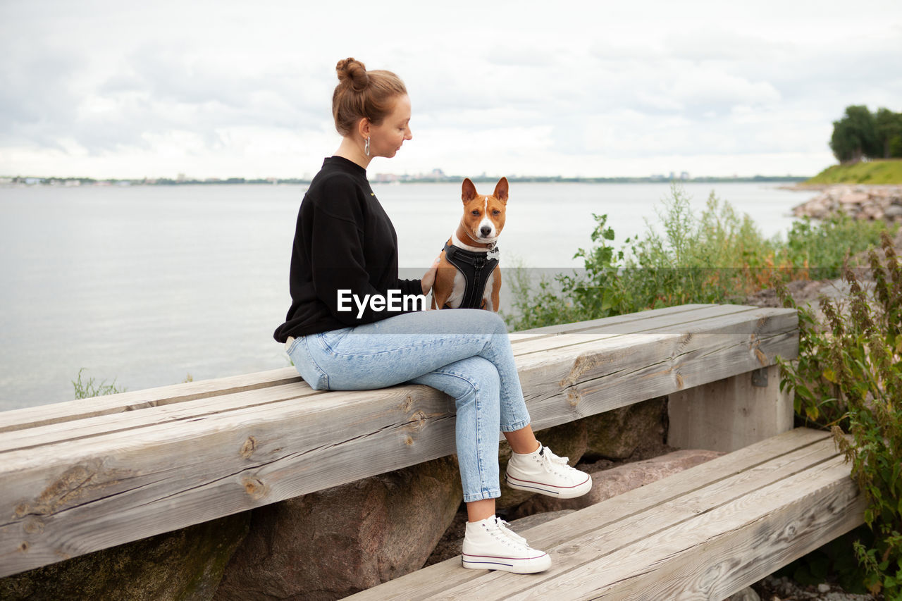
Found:
[[(410, 97), (390, 71), (367, 71), (354, 59), (340, 60), (336, 71), (332, 112), (342, 142), (300, 204), (291, 307), (274, 337), (315, 390), (409, 382), (454, 397), (468, 519), (464, 567), (548, 569), (548, 555), (494, 514), (498, 431), (513, 450), (512, 487), (570, 498), (588, 492), (591, 479), (533, 435), (502, 319), (486, 310), (413, 310), (385, 301), (428, 294), (436, 274), (433, 264), (421, 280), (398, 278), (397, 236), (366, 180), (374, 157), (391, 158), (411, 139)], [(360, 301), (373, 298), (382, 301)]]

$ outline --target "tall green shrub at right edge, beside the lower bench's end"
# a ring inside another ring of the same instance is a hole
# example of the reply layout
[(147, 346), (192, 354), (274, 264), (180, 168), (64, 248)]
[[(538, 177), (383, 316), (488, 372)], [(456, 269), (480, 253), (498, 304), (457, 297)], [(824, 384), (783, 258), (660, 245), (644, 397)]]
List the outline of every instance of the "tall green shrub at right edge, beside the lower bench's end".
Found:
[[(882, 236), (885, 264), (870, 251), (873, 289), (846, 266), (848, 303), (822, 298), (824, 323), (799, 310), (800, 348), (795, 364), (783, 362), (796, 411), (831, 426), (851, 461), (851, 473), (868, 499), (865, 522), (873, 541), (856, 541), (866, 584), (887, 598), (902, 597), (902, 265), (892, 240)], [(784, 303), (795, 307), (786, 291)]]

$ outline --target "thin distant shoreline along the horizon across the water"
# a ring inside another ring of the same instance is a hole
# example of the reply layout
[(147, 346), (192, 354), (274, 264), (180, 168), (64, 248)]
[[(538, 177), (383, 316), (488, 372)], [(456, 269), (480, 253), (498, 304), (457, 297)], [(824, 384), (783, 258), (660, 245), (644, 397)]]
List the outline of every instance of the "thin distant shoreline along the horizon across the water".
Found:
[[(460, 183), (464, 180), (464, 176), (443, 176), (443, 177), (410, 177), (410, 176), (391, 176), (393, 179), (387, 179), (384, 176), (377, 175), (373, 178), (374, 184), (393, 184), (393, 183)], [(494, 183), (501, 176), (481, 175), (470, 177), (474, 183)], [(561, 176), (507, 176), (511, 183), (784, 183), (798, 184), (807, 181), (806, 177), (795, 176), (767, 176), (755, 175), (752, 177), (700, 177), (700, 178), (666, 178), (666, 177), (644, 177), (644, 178), (566, 178)], [(228, 178), (226, 180), (210, 179), (210, 180), (168, 180), (168, 179), (141, 179), (141, 180), (95, 180), (93, 178), (59, 178), (59, 177), (31, 177), (31, 176), (0, 176), (0, 186), (54, 186), (54, 187), (78, 187), (78, 186), (273, 186), (273, 185), (308, 185), (310, 180), (306, 179), (280, 179), (268, 178), (258, 180), (245, 180), (244, 178)]]

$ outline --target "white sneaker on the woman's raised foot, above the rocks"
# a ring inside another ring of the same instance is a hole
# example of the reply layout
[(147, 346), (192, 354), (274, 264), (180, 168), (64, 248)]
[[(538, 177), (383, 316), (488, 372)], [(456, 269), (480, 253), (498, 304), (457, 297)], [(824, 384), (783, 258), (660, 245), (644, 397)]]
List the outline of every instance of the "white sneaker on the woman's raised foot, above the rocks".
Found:
[(592, 476), (568, 466), (567, 460), (539, 444), (534, 453), (513, 453), (504, 479), (511, 488), (557, 496), (558, 499), (585, 495), (592, 489)]

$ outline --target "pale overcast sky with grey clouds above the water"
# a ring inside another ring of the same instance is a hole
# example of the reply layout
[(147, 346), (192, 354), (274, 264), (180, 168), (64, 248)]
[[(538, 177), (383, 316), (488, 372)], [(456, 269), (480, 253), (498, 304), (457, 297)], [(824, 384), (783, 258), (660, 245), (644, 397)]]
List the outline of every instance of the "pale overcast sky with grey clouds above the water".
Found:
[(902, 111), (900, 0), (0, 0), (0, 176), (310, 175), (348, 56), (413, 105), (371, 176), (813, 175)]

